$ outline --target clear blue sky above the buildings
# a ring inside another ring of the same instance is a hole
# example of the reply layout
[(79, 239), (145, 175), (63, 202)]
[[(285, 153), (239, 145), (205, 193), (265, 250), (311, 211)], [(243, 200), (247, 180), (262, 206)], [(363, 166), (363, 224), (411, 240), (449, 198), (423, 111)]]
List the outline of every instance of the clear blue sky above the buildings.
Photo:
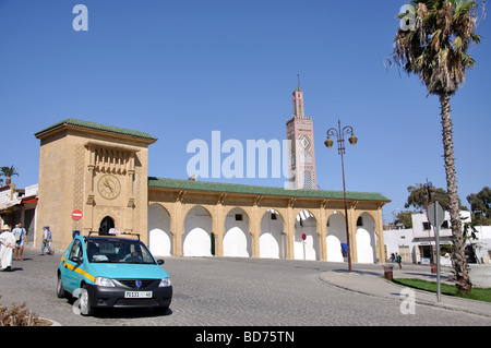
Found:
[[(88, 31), (75, 32), (75, 4)], [(446, 188), (439, 100), (384, 59), (405, 1), (325, 0), (0, 0), (0, 166), (38, 181), (34, 133), (65, 118), (147, 132), (148, 175), (187, 179), (195, 139), (283, 140), (301, 76), (313, 118), (318, 184), (343, 190), (340, 157), (323, 142), (349, 124), (358, 145), (345, 157), (348, 191), (392, 200), (384, 220), (404, 209), (406, 188)], [(452, 98), (458, 193), (490, 185), (490, 20), (472, 47), (476, 67)], [(227, 155), (224, 155), (224, 159)], [(58, 170), (52, 168), (52, 170)], [(212, 179), (206, 179), (212, 180)], [(213, 179), (283, 187), (285, 179)]]

